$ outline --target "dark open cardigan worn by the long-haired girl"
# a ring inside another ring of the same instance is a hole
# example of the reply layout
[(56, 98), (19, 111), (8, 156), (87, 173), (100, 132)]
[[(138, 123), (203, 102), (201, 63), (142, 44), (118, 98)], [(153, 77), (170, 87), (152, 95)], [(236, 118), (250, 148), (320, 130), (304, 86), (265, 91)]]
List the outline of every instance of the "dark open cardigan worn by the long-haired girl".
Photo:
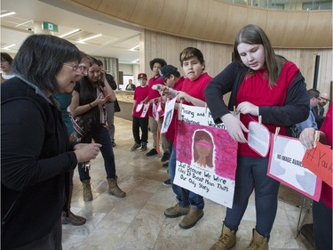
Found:
[[(234, 109), (236, 95), (247, 71), (247, 67), (232, 62), (206, 86), (204, 90), (206, 101), (216, 123), (221, 123), (220, 117)], [(223, 96), (230, 92), (229, 104), (226, 107)], [(309, 97), (304, 77), (300, 72), (289, 86), (283, 106), (259, 107), (263, 124), (286, 127), (305, 121), (309, 117), (309, 112)]]

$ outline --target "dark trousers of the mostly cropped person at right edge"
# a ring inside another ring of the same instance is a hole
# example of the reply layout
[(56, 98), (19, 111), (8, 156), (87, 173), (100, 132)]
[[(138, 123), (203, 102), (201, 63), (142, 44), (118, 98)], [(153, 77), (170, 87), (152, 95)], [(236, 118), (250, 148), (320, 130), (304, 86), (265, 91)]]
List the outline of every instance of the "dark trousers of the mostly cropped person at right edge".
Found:
[(332, 249), (332, 210), (321, 200), (313, 201), (313, 235), (315, 249)]

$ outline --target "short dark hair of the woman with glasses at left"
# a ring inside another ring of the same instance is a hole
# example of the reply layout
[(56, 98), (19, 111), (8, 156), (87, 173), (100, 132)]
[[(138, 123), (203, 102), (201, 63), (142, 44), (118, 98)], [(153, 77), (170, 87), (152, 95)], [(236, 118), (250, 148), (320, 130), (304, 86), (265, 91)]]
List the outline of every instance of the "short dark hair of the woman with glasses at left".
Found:
[(57, 93), (56, 75), (64, 62), (80, 62), (80, 51), (74, 44), (52, 35), (31, 35), (20, 46), (12, 62), (12, 71), (39, 88)]

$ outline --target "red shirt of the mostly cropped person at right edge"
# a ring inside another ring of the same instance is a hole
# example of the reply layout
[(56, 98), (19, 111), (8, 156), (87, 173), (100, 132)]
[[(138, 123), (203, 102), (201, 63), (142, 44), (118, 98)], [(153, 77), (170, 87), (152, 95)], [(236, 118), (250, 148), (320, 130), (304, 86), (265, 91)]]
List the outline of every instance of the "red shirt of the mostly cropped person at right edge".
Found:
[[(332, 119), (332, 105), (330, 105), (325, 120), (321, 125), (321, 131), (326, 134), (327, 144), (330, 147), (332, 147)], [(332, 188), (325, 182), (322, 182), (321, 186), (321, 200), (332, 210)]]

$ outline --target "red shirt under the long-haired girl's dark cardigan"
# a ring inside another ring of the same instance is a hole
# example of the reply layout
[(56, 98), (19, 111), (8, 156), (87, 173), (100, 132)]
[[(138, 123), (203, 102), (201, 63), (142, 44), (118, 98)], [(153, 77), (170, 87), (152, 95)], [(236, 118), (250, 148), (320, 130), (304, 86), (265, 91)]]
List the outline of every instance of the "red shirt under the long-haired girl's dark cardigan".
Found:
[[(256, 106), (283, 106), (286, 100), (289, 85), (297, 76), (297, 66), (291, 61), (287, 61), (283, 65), (281, 75), (274, 87), (268, 85), (268, 79), (264, 74), (266, 69), (259, 69), (254, 75), (246, 75), (242, 81), (242, 85), (237, 93), (236, 105), (243, 101), (249, 101)], [(258, 121), (258, 117), (252, 115), (242, 115), (242, 124), (249, 127), (250, 121)], [(275, 133), (275, 128), (279, 125), (266, 125), (268, 130)], [(286, 128), (281, 126), (280, 134), (286, 134)], [(244, 133), (245, 138), (248, 137)], [(238, 154), (245, 157), (260, 157), (255, 151), (250, 149), (248, 143), (238, 143)]]

